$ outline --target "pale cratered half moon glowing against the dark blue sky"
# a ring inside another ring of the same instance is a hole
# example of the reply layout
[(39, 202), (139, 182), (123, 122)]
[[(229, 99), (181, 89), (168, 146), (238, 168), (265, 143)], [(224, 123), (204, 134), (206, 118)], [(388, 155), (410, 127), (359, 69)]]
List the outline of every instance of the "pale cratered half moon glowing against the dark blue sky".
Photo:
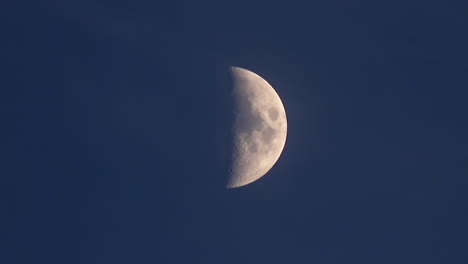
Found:
[(233, 152), (227, 188), (252, 183), (277, 162), (286, 143), (283, 103), (257, 74), (231, 67), (234, 102)]

